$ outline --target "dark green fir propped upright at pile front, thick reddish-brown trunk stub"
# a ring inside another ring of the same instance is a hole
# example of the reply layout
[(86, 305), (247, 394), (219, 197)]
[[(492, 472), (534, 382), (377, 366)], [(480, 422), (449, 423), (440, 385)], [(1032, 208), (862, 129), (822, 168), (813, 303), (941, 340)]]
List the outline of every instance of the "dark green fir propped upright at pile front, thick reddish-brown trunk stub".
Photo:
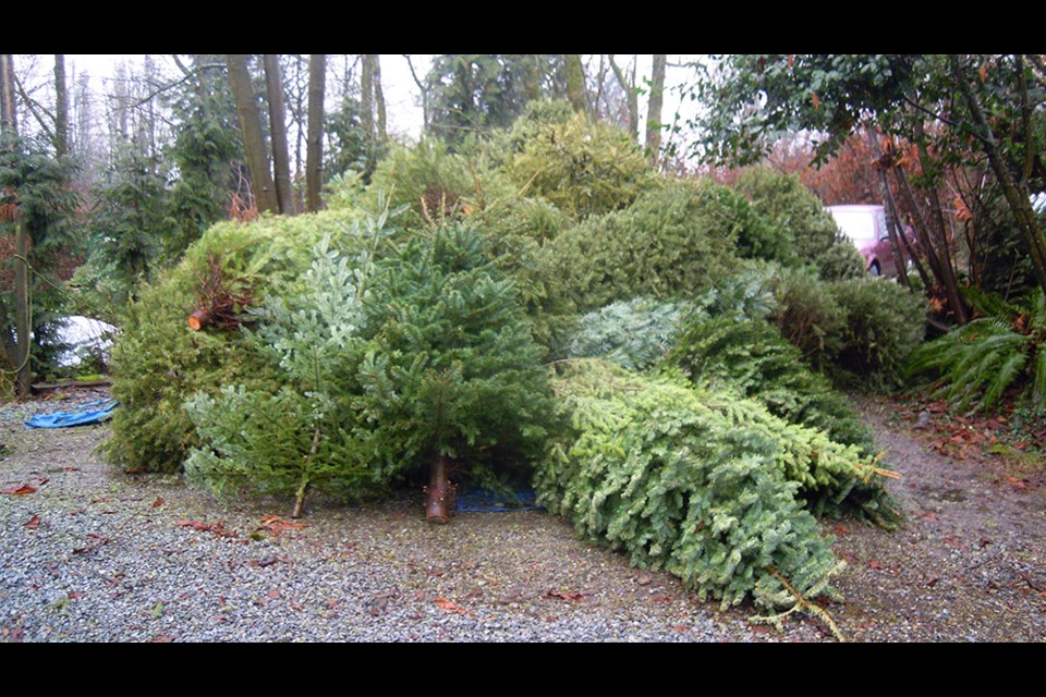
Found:
[(429, 463), (427, 515), (446, 522), (451, 468), (489, 480), (537, 453), (549, 411), (540, 351), (514, 286), (461, 225), (380, 262), (363, 306), (367, 453), (403, 473)]

